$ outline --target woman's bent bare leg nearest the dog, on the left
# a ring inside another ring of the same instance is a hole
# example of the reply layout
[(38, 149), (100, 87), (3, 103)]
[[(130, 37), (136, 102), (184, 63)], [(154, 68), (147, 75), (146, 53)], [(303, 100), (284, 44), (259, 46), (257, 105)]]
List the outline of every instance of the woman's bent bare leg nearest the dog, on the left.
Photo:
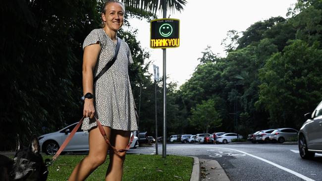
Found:
[[(106, 126), (103, 128), (109, 139), (111, 129)], [(98, 127), (89, 132), (89, 147), (89, 154), (77, 164), (68, 181), (84, 181), (98, 166), (105, 162), (108, 145)]]

